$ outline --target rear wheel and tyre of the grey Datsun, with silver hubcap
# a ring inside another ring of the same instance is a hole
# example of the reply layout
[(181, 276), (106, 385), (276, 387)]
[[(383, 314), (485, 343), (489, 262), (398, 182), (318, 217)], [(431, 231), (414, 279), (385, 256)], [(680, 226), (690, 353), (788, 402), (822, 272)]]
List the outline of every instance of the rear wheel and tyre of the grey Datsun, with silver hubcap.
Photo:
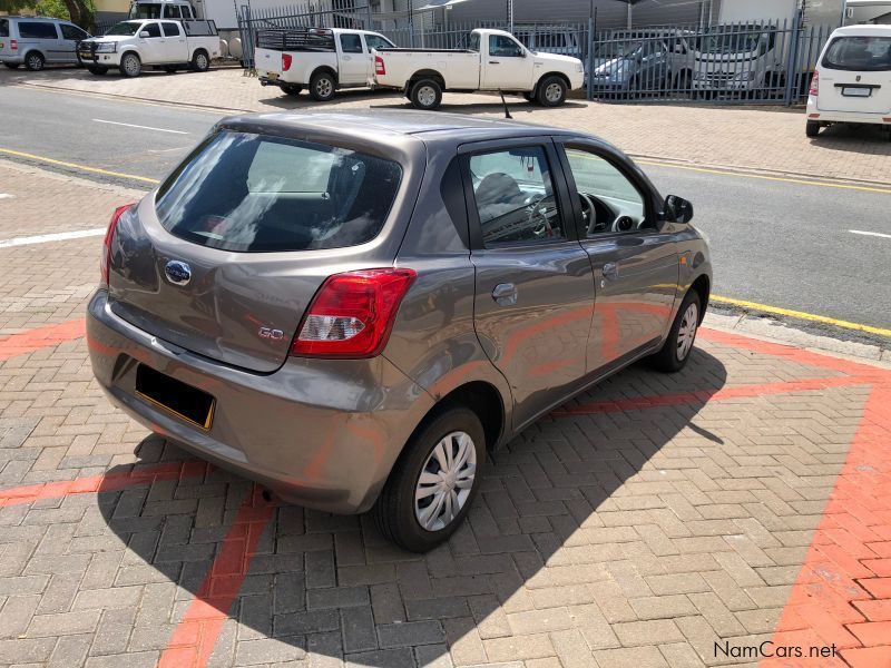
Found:
[(479, 491), (484, 462), (486, 434), (473, 411), (453, 406), (428, 420), (409, 440), (374, 507), (381, 533), (411, 552), (447, 540)]

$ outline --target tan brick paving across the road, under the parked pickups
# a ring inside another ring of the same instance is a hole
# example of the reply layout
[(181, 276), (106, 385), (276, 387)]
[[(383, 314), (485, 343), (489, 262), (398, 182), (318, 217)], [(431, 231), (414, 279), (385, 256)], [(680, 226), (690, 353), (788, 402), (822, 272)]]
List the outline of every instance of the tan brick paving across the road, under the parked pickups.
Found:
[[(138, 79), (94, 77), (74, 69), (37, 75), (0, 71), (0, 85), (13, 82), (247, 111), (408, 108), (404, 98), (388, 91), (343, 91), (325, 106), (310, 101), (306, 95), (294, 100), (275, 88), (261, 87), (256, 78), (243, 76), (241, 69), (175, 77), (149, 72)], [(570, 100), (559, 109), (542, 109), (519, 98), (510, 101), (518, 120), (594, 132), (635, 155), (891, 184), (891, 144), (885, 135), (832, 128), (819, 139), (809, 140), (804, 137), (801, 109), (589, 105), (584, 99)], [(503, 116), (495, 97), (447, 94), (444, 102), (443, 111)]]

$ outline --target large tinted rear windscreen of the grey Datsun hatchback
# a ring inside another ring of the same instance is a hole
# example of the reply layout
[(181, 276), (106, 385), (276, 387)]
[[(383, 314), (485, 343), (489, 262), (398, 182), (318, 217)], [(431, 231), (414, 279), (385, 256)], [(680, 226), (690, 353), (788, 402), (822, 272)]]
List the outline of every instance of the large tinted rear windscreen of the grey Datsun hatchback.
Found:
[(156, 208), (169, 233), (223, 250), (345, 248), (378, 236), (401, 178), (391, 160), (224, 131), (167, 178)]

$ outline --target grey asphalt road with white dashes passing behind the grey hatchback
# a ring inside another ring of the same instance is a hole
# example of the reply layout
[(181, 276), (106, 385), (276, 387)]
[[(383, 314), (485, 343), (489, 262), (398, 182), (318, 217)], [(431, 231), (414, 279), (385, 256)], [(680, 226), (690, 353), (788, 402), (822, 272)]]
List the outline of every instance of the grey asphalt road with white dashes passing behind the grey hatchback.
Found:
[[(4, 88), (0, 148), (163, 178), (221, 115)], [(25, 158), (0, 151), (0, 157)], [(78, 176), (150, 187), (109, 174)], [(644, 166), (663, 194), (691, 199), (714, 254), (716, 294), (891, 328), (891, 194), (738, 174)], [(871, 236), (872, 233), (885, 236)]]

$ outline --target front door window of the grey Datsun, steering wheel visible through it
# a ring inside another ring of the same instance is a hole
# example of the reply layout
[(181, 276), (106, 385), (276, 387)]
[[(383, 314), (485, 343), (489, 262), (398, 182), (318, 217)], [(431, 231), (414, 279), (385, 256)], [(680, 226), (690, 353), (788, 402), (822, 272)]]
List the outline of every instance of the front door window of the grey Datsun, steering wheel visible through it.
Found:
[(643, 195), (615, 165), (576, 148), (567, 148), (566, 157), (576, 181), (588, 238), (653, 227), (646, 217)]

